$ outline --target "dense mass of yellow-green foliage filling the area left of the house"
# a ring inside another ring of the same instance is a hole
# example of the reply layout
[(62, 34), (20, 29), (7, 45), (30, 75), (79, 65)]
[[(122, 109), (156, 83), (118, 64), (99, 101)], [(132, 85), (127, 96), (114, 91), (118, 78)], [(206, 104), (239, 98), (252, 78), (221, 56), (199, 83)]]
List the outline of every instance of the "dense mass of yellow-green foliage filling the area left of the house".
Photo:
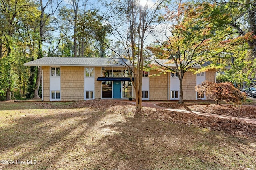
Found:
[[(6, 8), (8, 7), (8, 8)], [(0, 2), (0, 86), (1, 100), (11, 99), (28, 68), (23, 66), (36, 51), (37, 4), (30, 0)], [(26, 81), (24, 81), (26, 83)], [(8, 93), (6, 93), (8, 91)]]

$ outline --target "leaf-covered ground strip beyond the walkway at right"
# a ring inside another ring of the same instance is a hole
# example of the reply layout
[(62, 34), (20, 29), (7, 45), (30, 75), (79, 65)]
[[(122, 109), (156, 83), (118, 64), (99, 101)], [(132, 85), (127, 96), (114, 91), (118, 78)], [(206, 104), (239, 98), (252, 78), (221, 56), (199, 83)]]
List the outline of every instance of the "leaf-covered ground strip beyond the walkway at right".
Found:
[(230, 115), (236, 117), (250, 117), (256, 119), (255, 106), (236, 106), (218, 104), (178, 104), (178, 103), (159, 103), (157, 106), (180, 109), (188, 111), (199, 111), (203, 113), (213, 113), (218, 115)]

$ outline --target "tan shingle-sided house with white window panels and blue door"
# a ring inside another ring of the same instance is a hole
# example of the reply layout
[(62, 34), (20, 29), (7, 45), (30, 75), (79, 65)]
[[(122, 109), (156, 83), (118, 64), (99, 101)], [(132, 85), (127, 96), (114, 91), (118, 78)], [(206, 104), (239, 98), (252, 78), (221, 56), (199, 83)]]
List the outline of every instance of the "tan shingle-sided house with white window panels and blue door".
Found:
[[(24, 65), (42, 69), (43, 101), (135, 98), (124, 62), (129, 64), (128, 60), (111, 58), (43, 57)], [(177, 76), (174, 73), (149, 76), (157, 73), (143, 72), (142, 100), (178, 100)], [(215, 82), (215, 70), (200, 74), (186, 72), (182, 84), (184, 100), (205, 99), (195, 91), (195, 86), (204, 80)]]

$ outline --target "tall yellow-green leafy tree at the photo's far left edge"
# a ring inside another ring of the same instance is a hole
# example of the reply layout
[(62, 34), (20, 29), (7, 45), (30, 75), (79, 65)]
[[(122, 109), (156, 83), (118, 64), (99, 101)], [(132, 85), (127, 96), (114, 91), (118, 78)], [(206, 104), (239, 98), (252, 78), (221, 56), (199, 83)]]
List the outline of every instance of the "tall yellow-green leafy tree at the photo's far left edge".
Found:
[(6, 100), (11, 100), (11, 92), (14, 90), (16, 76), (12, 70), (15, 63), (13, 49), (15, 49), (18, 38), (15, 36), (20, 29), (19, 24), (32, 15), (33, 1), (28, 0), (0, 0), (0, 19), (4, 23), (0, 31), (0, 67), (2, 69), (1, 81), (6, 88)]

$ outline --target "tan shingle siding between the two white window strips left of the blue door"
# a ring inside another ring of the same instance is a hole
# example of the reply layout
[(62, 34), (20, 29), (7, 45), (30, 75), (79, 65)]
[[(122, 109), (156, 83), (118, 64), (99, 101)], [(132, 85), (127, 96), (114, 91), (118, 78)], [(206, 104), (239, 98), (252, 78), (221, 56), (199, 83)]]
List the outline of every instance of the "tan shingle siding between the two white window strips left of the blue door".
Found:
[(84, 67), (60, 67), (61, 101), (84, 100)]

